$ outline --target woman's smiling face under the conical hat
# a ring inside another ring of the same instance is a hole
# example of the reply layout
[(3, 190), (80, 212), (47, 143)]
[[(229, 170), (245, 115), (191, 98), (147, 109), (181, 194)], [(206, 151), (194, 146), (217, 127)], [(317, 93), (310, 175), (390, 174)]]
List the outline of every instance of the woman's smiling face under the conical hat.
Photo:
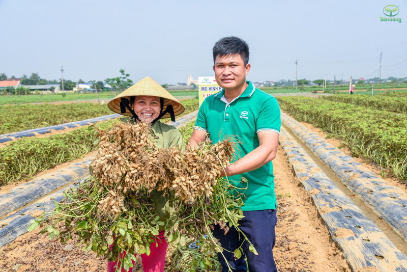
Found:
[(136, 96), (133, 108), (142, 122), (151, 123), (160, 115), (160, 98), (150, 95)]

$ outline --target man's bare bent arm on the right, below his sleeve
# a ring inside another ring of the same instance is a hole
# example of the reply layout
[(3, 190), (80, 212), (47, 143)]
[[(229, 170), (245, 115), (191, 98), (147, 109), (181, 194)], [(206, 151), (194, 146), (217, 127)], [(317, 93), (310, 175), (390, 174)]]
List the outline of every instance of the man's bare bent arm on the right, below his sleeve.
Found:
[(250, 172), (273, 160), (277, 154), (278, 136), (275, 131), (259, 131), (257, 133), (259, 146), (226, 167), (221, 176), (234, 176)]

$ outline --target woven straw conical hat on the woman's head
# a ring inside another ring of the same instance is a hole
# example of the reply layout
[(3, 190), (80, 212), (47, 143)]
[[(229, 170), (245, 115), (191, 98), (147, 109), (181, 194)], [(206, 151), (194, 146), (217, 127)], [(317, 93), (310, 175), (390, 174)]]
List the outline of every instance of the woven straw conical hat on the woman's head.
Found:
[[(115, 113), (122, 114), (120, 111), (120, 101), (123, 97), (130, 100), (130, 96), (138, 96), (138, 95), (150, 95), (150, 96), (157, 96), (164, 98), (164, 107), (163, 111), (167, 108), (167, 105), (172, 105), (174, 109), (174, 115), (180, 115), (185, 111), (185, 107), (177, 100), (177, 98), (173, 97), (170, 93), (167, 92), (164, 88), (161, 87), (156, 81), (151, 79), (151, 77), (147, 76), (138, 81), (136, 84), (128, 88), (127, 90), (123, 91), (122, 93), (115, 96), (107, 106)], [(133, 106), (133, 105), (131, 105)], [(126, 113), (122, 115), (133, 116), (129, 110), (126, 108)], [(165, 114), (161, 118), (169, 118), (169, 113)]]

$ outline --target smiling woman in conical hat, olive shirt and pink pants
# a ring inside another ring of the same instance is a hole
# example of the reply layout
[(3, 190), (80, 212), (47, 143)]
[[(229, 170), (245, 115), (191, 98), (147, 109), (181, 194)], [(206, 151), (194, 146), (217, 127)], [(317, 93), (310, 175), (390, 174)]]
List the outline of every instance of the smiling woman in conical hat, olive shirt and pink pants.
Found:
[[(157, 142), (157, 148), (168, 148), (170, 146), (182, 145), (182, 136), (177, 128), (161, 123), (160, 118), (171, 117), (175, 121), (175, 116), (185, 111), (184, 106), (156, 81), (146, 77), (138, 81), (123, 93), (114, 97), (108, 107), (115, 113), (128, 117), (120, 118), (122, 122), (132, 124), (146, 122), (151, 123), (153, 141)], [(151, 198), (156, 202), (155, 212), (160, 216), (160, 221), (167, 223), (173, 207), (169, 205), (168, 196), (164, 197), (156, 189), (151, 192)], [(160, 233), (156, 237), (158, 247), (153, 242), (150, 245), (149, 256), (141, 254), (144, 272), (163, 272), (165, 264), (165, 254), (167, 251), (167, 241), (164, 236), (164, 227), (161, 226)], [(124, 256), (122, 256), (124, 257)], [(117, 262), (108, 262), (107, 271), (116, 271)], [(127, 272), (122, 269), (122, 272)], [(132, 272), (130, 268), (129, 272)]]

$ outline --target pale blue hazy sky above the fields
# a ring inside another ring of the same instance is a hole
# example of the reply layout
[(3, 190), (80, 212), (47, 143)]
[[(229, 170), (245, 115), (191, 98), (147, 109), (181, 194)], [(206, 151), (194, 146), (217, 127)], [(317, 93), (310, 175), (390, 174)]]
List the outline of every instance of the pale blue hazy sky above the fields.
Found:
[[(250, 4), (251, 3), (251, 4)], [(381, 21), (387, 5), (396, 21)], [(0, 73), (77, 81), (213, 75), (225, 36), (250, 46), (252, 81), (407, 76), (407, 0), (0, 0)]]

